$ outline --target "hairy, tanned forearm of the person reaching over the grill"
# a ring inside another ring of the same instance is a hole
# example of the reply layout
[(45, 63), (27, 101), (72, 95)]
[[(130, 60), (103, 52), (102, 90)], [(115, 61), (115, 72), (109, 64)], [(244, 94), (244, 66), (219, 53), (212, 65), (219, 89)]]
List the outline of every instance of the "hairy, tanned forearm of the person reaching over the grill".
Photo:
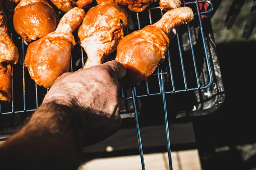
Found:
[(17, 169), (77, 169), (81, 135), (69, 108), (44, 103), (30, 121), (0, 145), (0, 165)]

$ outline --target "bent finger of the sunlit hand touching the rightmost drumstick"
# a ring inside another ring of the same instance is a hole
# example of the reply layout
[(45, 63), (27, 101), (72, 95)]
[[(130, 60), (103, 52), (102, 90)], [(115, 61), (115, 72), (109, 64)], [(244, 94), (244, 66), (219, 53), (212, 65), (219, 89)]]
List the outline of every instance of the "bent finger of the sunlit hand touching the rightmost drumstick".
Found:
[(107, 65), (108, 67), (110, 67), (111, 71), (113, 71), (112, 74), (115, 74), (117, 79), (123, 78), (126, 74), (125, 67), (120, 62), (108, 61), (102, 65)]

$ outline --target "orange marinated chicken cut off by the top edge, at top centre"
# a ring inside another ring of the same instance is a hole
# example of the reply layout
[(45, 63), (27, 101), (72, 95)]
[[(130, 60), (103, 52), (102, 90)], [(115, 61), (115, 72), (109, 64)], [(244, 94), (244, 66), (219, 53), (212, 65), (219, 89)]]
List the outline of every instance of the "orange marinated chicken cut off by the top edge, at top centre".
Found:
[(96, 0), (98, 4), (102, 4), (106, 1), (115, 1), (123, 6), (127, 6), (128, 9), (134, 12), (142, 12), (148, 7), (151, 3), (156, 2), (157, 0)]

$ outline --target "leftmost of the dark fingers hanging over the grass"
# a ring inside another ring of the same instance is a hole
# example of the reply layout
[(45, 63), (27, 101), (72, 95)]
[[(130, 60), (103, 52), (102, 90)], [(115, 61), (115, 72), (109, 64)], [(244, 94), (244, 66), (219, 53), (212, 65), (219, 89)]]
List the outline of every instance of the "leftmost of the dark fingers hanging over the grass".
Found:
[(245, 0), (234, 0), (230, 6), (230, 9), (227, 13), (226, 20), (224, 22), (224, 27), (230, 29), (236, 21), (239, 12), (241, 11), (242, 6), (244, 5)]

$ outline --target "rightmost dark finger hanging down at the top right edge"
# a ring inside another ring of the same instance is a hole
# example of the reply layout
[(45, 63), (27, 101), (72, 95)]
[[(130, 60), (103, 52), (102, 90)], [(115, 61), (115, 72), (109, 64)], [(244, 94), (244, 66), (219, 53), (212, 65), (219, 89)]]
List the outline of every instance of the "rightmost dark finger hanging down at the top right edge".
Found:
[(253, 29), (256, 25), (256, 1), (253, 3), (253, 7), (247, 19), (247, 23), (244, 27), (243, 39), (248, 40), (253, 32)]

